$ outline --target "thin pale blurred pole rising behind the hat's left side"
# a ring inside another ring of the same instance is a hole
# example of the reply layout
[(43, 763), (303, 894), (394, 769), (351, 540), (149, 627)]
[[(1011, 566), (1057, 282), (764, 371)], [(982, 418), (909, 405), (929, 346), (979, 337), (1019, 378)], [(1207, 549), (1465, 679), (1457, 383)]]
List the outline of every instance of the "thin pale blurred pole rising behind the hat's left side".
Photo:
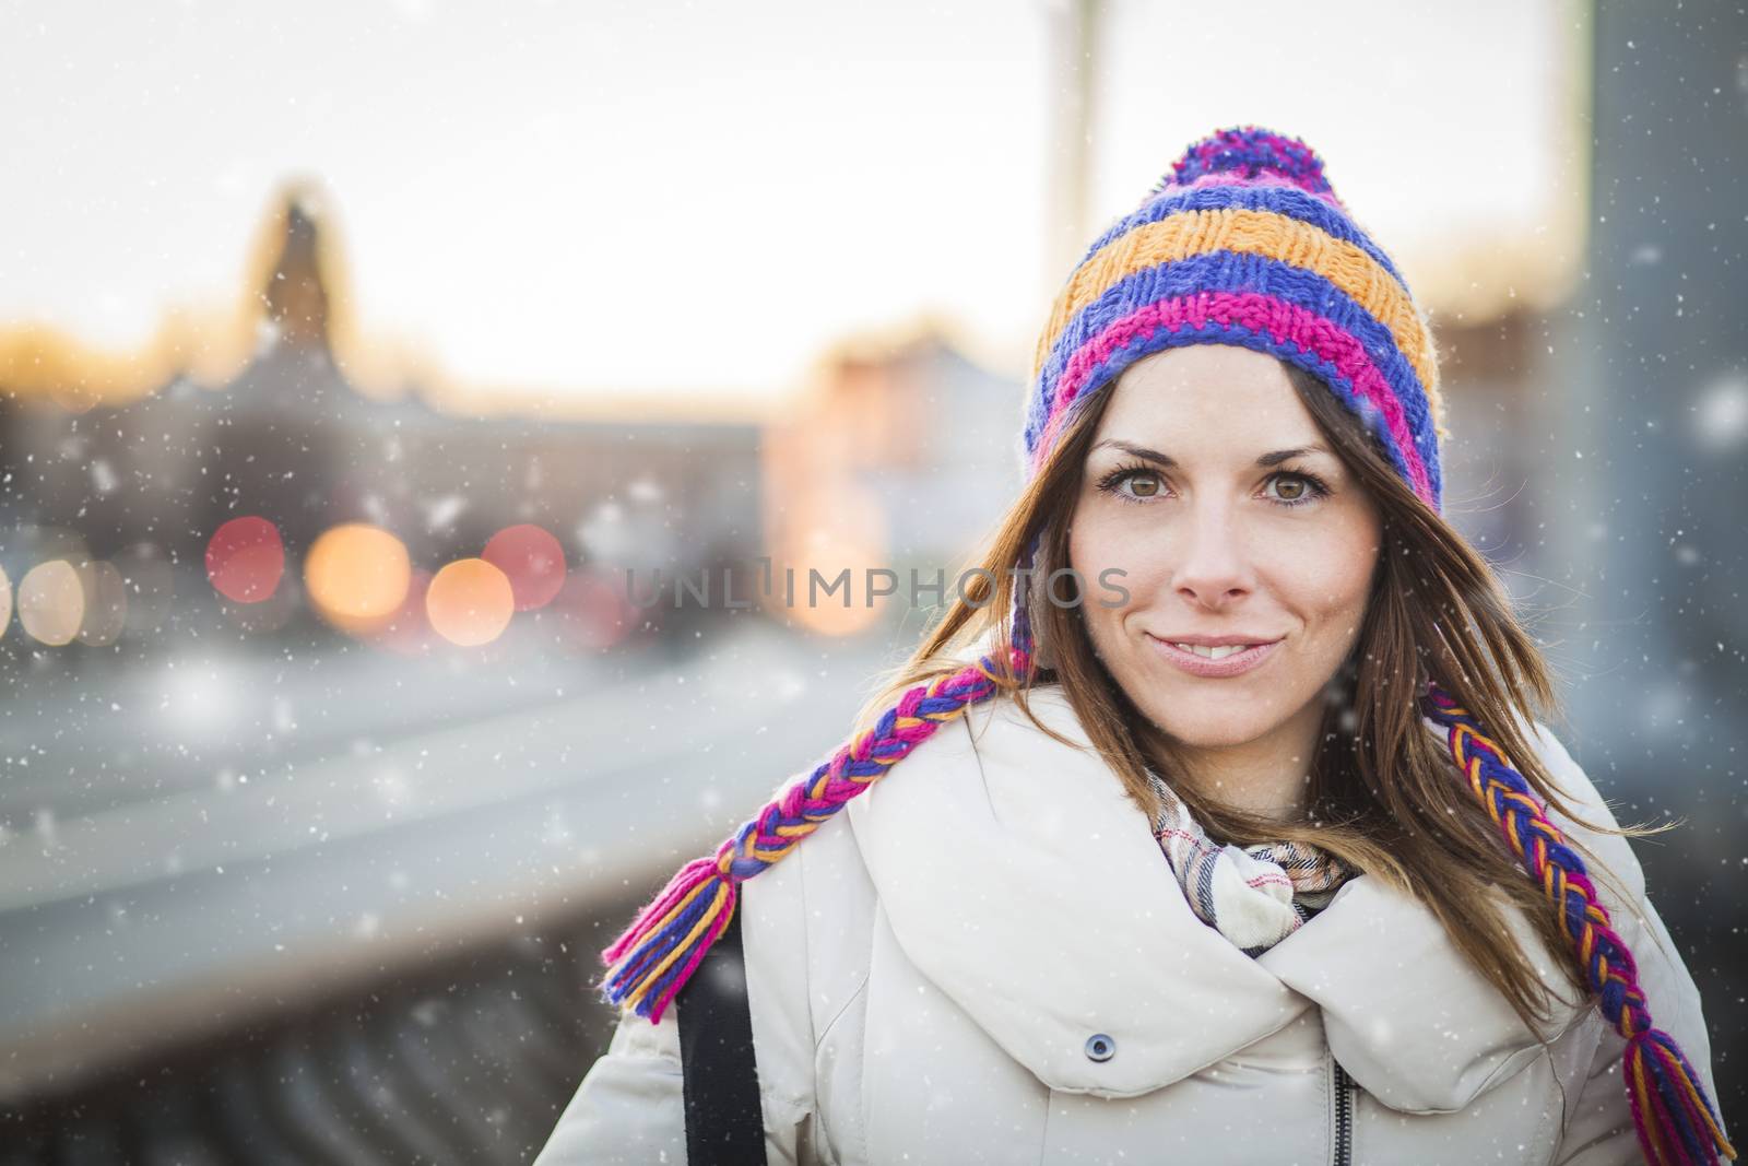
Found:
[(1049, 294), (1091, 241), (1087, 205), (1092, 184), (1092, 126), (1098, 94), (1098, 33), (1103, 0), (1051, 0), (1045, 5), (1052, 75), (1049, 198)]

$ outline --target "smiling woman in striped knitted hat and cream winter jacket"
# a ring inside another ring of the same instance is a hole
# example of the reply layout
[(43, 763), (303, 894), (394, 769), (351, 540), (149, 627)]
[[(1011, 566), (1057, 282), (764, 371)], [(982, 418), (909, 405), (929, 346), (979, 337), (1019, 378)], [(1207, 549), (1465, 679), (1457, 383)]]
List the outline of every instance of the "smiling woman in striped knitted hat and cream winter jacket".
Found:
[(741, 920), (769, 1161), (1734, 1157), (1645, 830), (1440, 516), (1439, 406), (1321, 161), (1194, 143), (1059, 294), (968, 593), (605, 953), (540, 1163), (685, 1161), (669, 1003)]

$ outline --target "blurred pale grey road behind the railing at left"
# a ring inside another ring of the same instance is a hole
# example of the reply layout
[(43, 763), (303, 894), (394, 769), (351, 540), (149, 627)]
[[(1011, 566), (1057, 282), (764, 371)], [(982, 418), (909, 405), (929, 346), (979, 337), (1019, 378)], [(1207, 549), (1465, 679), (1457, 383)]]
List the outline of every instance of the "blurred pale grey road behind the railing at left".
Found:
[[(514, 685), (369, 657), (212, 666), (232, 715), (280, 703), (295, 727), (253, 767), (196, 743), (192, 776), (170, 710), (140, 736), (96, 715), (42, 734), (7, 792), (38, 825), (0, 846), (0, 1098), (654, 890), (836, 748), (886, 661), (745, 621), (685, 659), (519, 663)], [(129, 783), (105, 783), (124, 757)]]

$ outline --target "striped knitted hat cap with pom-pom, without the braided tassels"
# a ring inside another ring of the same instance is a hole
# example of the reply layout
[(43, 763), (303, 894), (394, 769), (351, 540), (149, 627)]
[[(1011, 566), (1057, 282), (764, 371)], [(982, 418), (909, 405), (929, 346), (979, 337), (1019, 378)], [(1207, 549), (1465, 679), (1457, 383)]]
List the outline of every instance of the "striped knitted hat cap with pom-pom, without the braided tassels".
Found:
[(1397, 266), (1297, 138), (1225, 129), (1183, 152), (1091, 246), (1038, 339), (1026, 400), (1035, 474), (1075, 413), (1136, 360), (1241, 344), (1313, 372), (1397, 474), (1440, 509), (1439, 365)]

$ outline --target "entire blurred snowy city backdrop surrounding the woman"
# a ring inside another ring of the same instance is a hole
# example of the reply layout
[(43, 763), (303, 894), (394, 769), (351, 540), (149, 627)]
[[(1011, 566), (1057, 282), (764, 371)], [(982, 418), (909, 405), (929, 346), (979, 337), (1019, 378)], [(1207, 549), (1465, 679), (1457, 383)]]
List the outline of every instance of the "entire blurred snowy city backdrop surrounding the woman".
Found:
[(1058, 281), (1241, 122), (1430, 306), (1748, 1110), (1739, 7), (0, 12), (0, 1163), (530, 1161), (598, 951), (937, 614), (764, 580), (951, 579)]

